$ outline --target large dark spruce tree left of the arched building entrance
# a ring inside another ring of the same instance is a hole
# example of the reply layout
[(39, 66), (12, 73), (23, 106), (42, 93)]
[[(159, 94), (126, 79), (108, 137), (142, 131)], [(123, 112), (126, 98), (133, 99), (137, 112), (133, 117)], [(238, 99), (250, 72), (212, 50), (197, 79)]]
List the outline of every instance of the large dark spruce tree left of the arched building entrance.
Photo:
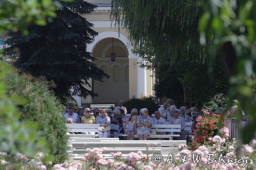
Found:
[(98, 33), (92, 30), (92, 23), (80, 16), (93, 12), (97, 6), (83, 0), (60, 3), (62, 8), (56, 10), (57, 17), (47, 26), (28, 26), (27, 36), (8, 33), (6, 43), (10, 47), (5, 55), (20, 71), (53, 80), (55, 95), (62, 101), (71, 98), (72, 87), (73, 95), (97, 95), (83, 86), (90, 86), (90, 78), (102, 81), (109, 76), (92, 63), (95, 58), (86, 51)]

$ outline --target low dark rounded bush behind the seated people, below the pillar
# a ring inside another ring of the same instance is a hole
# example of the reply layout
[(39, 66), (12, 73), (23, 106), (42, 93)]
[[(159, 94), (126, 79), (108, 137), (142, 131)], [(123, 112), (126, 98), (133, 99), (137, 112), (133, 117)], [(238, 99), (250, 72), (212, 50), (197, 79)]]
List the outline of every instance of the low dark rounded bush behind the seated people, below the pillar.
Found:
[(147, 108), (148, 114), (154, 114), (158, 110), (159, 106), (156, 104), (156, 99), (153, 96), (142, 96), (141, 98), (132, 98), (123, 103), (123, 106), (126, 107), (127, 113), (131, 113), (133, 108), (136, 108), (138, 111), (142, 108)]

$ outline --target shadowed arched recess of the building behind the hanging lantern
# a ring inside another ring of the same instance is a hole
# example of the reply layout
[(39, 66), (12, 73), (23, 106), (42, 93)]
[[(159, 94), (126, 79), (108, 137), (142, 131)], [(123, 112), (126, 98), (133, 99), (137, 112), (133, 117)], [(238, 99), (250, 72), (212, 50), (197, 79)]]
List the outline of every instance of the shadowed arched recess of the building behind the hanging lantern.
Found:
[[(110, 53), (116, 53), (116, 61), (112, 62)], [(103, 82), (93, 81), (93, 91), (98, 96), (93, 103), (116, 103), (120, 99), (129, 99), (129, 52), (125, 44), (117, 38), (100, 40), (93, 48), (94, 63), (110, 76)]]

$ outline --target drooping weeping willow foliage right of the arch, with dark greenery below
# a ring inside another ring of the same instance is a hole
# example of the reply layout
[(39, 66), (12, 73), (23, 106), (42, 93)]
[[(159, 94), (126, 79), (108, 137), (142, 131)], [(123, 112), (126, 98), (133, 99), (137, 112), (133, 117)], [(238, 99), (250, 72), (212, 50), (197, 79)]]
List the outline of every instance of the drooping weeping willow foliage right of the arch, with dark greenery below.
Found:
[[(209, 61), (212, 41), (205, 46), (199, 43), (197, 23), (206, 10), (200, 3), (112, 1), (112, 18), (117, 26), (128, 28), (134, 53), (145, 61), (141, 66), (155, 70), (157, 96), (172, 98), (178, 105), (203, 103), (227, 91), (220, 61)], [(210, 79), (209, 64), (215, 65)]]

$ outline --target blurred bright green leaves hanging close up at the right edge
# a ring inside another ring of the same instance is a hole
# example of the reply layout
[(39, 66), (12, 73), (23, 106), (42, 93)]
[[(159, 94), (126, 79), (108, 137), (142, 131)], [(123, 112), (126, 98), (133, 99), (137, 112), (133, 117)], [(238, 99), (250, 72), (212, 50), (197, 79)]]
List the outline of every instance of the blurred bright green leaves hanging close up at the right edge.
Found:
[[(211, 58), (215, 58), (219, 47), (226, 42), (231, 42), (236, 59), (235, 74), (230, 77), (229, 96), (239, 101), (236, 110), (237, 117), (241, 116), (241, 107), (249, 115), (249, 126), (242, 130), (243, 142), (249, 142), (255, 137), (256, 107), (252, 104), (253, 80), (256, 72), (255, 46), (256, 46), (256, 2), (228, 0), (211, 0), (210, 8), (202, 16), (199, 24), (200, 40), (202, 44), (208, 37), (214, 35), (214, 48)], [(235, 3), (234, 3), (235, 2)], [(256, 103), (254, 103), (256, 104)]]

